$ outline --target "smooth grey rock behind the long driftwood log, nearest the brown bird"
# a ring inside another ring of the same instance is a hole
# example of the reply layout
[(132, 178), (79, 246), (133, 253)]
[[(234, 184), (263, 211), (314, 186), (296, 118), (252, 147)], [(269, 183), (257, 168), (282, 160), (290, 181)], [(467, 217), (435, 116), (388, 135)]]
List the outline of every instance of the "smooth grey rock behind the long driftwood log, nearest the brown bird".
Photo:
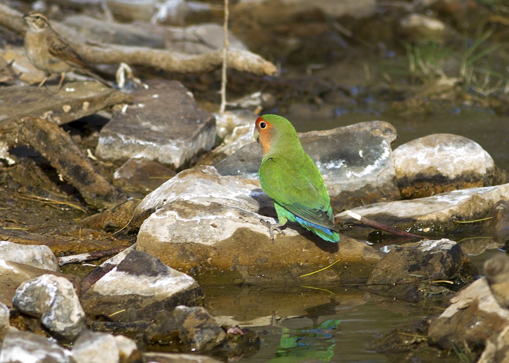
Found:
[(76, 29), (83, 39), (96, 43), (123, 44), (147, 48), (164, 48), (164, 39), (142, 26), (101, 21), (86, 15), (68, 16), (64, 24)]

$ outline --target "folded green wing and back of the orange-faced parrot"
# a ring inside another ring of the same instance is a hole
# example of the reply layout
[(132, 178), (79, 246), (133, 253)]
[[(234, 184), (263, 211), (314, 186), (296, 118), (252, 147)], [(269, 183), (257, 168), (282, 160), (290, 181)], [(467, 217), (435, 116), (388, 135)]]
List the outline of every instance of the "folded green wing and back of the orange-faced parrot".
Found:
[(322, 175), (307, 154), (263, 160), (259, 175), (262, 189), (277, 204), (306, 221), (335, 230)]

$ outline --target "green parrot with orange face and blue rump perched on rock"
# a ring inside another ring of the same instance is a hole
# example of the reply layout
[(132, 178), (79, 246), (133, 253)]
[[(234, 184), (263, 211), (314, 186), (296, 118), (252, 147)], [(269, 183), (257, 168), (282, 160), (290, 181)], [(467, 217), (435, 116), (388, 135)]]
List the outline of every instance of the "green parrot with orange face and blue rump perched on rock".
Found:
[[(340, 235), (322, 174), (302, 148), (289, 120), (278, 115), (258, 117), (254, 138), (263, 148), (260, 183), (274, 199), (279, 225), (298, 223), (329, 242), (338, 242)], [(271, 226), (271, 237), (273, 230)]]

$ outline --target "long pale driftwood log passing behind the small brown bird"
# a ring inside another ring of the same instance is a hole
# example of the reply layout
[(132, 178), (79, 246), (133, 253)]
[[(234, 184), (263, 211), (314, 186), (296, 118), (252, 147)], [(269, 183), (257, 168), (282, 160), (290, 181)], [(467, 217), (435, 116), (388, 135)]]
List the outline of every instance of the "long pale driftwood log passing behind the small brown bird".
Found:
[[(0, 5), (0, 25), (4, 25), (16, 32), (23, 33), (24, 25), (20, 12), (5, 5)], [(15, 20), (16, 19), (16, 20)], [(184, 54), (161, 49), (144, 47), (130, 47), (125, 45), (102, 44), (89, 45), (77, 43), (69, 39), (74, 31), (67, 26), (50, 21), (56, 32), (62, 35), (68, 43), (91, 64), (120, 64), (151, 67), (157, 70), (173, 73), (205, 73), (221, 65), (222, 50), (203, 54)], [(256, 75), (272, 75), (276, 67), (258, 54), (247, 50), (231, 49), (228, 51), (228, 68)]]

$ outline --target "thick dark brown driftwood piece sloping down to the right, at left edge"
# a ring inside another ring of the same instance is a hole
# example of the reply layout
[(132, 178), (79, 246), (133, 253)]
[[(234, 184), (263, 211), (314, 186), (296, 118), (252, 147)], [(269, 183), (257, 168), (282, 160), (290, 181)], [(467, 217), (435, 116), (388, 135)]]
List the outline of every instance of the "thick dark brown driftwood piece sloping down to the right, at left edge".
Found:
[(0, 138), (8, 148), (30, 145), (96, 208), (116, 206), (126, 195), (97, 170), (61, 128), (42, 118), (22, 117), (0, 122)]

